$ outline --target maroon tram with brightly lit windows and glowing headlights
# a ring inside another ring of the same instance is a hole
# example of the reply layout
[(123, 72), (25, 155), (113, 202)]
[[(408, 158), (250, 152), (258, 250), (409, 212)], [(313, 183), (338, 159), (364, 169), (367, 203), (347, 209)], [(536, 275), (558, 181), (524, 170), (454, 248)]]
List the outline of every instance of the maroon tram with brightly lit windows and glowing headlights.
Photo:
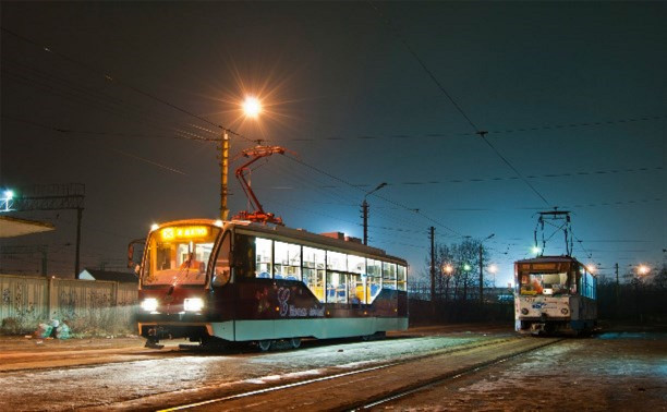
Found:
[(250, 221), (156, 226), (140, 265), (140, 334), (202, 344), (371, 337), (408, 328), (408, 265), (357, 242)]

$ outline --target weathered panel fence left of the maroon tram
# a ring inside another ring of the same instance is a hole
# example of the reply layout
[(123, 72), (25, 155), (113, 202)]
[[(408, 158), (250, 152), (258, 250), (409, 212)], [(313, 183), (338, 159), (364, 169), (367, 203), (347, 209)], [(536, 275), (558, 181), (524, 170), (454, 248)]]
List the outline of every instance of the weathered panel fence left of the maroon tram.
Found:
[(49, 319), (73, 332), (133, 331), (135, 283), (0, 275), (0, 322), (5, 332), (34, 330)]

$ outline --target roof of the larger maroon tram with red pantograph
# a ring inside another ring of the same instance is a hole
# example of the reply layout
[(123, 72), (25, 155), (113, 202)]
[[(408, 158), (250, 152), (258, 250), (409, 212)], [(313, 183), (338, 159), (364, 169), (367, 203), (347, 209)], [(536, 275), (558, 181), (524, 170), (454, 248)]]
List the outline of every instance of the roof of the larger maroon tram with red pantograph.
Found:
[[(214, 219), (174, 220), (174, 221), (168, 221), (168, 222), (160, 223), (159, 226), (165, 227), (165, 226), (173, 226), (173, 225), (219, 226), (219, 220), (214, 220)], [(356, 252), (356, 253), (361, 253), (365, 255), (374, 255), (374, 256), (384, 257), (387, 259), (405, 262), (405, 259), (401, 257), (388, 255), (387, 252), (385, 252), (381, 249), (368, 246), (368, 245), (356, 243), (353, 241), (345, 241), (341, 239), (330, 238), (324, 234), (308, 232), (307, 230), (304, 230), (304, 229), (293, 229), (293, 228), (288, 228), (284, 226), (267, 226), (267, 225), (255, 223), (255, 222), (246, 221), (246, 220), (229, 220), (229, 221), (225, 221), (223, 226), (225, 228), (237, 227), (237, 228), (241, 228), (241, 229), (253, 231), (253, 232), (265, 233), (267, 235), (284, 237), (284, 238), (289, 238), (293, 240), (314, 243), (314, 244), (322, 245), (322, 246), (330, 246), (330, 247), (341, 250), (341, 251), (344, 250), (347, 252)]]

